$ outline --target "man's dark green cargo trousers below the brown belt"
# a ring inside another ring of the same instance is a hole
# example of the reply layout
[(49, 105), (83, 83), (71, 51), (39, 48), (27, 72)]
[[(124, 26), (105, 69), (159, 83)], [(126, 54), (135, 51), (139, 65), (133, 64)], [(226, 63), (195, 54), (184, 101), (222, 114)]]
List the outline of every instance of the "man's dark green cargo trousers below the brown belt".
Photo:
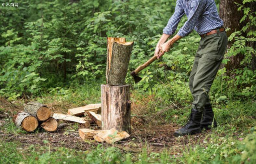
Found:
[(208, 93), (227, 47), (226, 32), (217, 31), (218, 33), (200, 40), (189, 76), (189, 88), (193, 96), (192, 106), (198, 112), (203, 111), (204, 106), (210, 104)]

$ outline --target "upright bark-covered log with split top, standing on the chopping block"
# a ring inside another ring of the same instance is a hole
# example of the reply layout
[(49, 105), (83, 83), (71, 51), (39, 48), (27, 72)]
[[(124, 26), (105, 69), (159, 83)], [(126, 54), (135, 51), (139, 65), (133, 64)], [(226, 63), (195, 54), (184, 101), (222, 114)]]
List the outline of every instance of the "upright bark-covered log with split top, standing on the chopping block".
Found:
[(126, 42), (125, 38), (107, 38), (107, 84), (125, 84), (132, 47), (133, 42)]

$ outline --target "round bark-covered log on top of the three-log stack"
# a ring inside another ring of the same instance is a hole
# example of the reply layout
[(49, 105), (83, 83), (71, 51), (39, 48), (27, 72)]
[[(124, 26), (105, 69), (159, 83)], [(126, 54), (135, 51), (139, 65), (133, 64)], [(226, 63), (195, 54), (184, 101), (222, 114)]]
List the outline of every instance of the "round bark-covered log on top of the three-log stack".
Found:
[(46, 105), (38, 102), (27, 103), (24, 107), (24, 112), (36, 117), (39, 121), (45, 121), (51, 115), (51, 110)]

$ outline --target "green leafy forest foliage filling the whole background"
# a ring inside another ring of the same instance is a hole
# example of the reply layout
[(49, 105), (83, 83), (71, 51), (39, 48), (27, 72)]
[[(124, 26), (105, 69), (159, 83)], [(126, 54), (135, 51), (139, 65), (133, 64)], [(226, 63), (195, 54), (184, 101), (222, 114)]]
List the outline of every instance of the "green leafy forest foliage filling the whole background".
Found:
[[(227, 76), (225, 68), (219, 70), (210, 93), (217, 103), (234, 96), (255, 95), (256, 72), (251, 67), (255, 49), (250, 43), (255, 42), (251, 27), (255, 26), (256, 17), (255, 11), (247, 7), (252, 2), (237, 4), (244, 12), (241, 22), (246, 24), (230, 35), (229, 41), (234, 43), (226, 57), (244, 57), (233, 76)], [(10, 100), (33, 98), (103, 82), (106, 37), (125, 37), (135, 42), (128, 71), (135, 69), (154, 55), (175, 5), (175, 1), (168, 0), (25, 0), (19, 7), (4, 7), (0, 12), (0, 94)], [(177, 30), (185, 21), (184, 16)], [(142, 81), (133, 88), (157, 95), (163, 100), (159, 105), (190, 102), (188, 77), (199, 41), (195, 31), (182, 38), (160, 60), (141, 71)], [(228, 61), (225, 58), (223, 63)], [(130, 75), (126, 82), (133, 83)]]

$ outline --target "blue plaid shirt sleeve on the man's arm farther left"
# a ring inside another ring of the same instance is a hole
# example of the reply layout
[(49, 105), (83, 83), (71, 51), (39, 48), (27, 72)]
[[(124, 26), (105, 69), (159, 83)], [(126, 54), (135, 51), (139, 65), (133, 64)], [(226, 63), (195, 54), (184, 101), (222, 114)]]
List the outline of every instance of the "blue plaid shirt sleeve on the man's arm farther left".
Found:
[(184, 14), (185, 14), (185, 12), (180, 3), (180, 0), (177, 0), (175, 11), (174, 11), (173, 15), (171, 16), (171, 18), (169, 19), (166, 27), (164, 28), (163, 33), (167, 34), (167, 35), (172, 35), (176, 31), (178, 23), (180, 22), (180, 20)]

